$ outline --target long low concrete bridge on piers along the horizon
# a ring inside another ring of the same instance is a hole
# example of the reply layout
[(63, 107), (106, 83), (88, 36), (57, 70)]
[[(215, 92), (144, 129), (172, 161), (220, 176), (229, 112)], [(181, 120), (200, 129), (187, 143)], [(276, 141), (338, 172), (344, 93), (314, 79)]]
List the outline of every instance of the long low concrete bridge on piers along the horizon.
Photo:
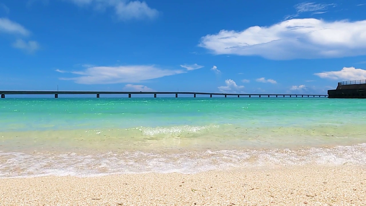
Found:
[(141, 94), (152, 94), (154, 98), (159, 94), (175, 94), (175, 97), (178, 98), (178, 95), (185, 94), (185, 95), (210, 95), (212, 98), (213, 95), (215, 96), (245, 96), (245, 97), (327, 97), (328, 95), (298, 95), (298, 94), (238, 94), (238, 93), (210, 93), (210, 92), (118, 92), (118, 91), (13, 91), (13, 90), (5, 90), (0, 91), (1, 98), (5, 98), (5, 95), (55, 95), (55, 98), (58, 98), (59, 95), (86, 95), (86, 94), (94, 94), (97, 98), (100, 97), (102, 94), (108, 95), (121, 95), (121, 94), (128, 94), (128, 97), (131, 98), (132, 95), (141, 95)]

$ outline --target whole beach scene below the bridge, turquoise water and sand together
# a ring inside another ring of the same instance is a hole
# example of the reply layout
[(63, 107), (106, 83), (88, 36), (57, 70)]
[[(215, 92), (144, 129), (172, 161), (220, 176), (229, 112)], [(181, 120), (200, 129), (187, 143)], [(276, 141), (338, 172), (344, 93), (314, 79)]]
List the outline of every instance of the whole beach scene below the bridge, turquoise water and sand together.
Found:
[(2, 205), (366, 205), (366, 105), (7, 98)]

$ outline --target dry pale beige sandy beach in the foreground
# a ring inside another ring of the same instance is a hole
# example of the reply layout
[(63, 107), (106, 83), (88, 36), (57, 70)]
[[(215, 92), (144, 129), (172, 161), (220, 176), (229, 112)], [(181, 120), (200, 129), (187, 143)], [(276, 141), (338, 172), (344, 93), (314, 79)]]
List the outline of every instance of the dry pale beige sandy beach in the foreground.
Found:
[(366, 205), (366, 167), (0, 180), (1, 205)]

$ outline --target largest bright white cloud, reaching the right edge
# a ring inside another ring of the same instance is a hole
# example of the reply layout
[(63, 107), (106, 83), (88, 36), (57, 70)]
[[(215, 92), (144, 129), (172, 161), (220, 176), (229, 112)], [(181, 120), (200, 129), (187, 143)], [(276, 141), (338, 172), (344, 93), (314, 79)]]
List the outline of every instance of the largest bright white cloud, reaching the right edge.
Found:
[(291, 19), (268, 27), (221, 30), (202, 37), (199, 46), (214, 54), (258, 55), (276, 60), (366, 55), (366, 20)]

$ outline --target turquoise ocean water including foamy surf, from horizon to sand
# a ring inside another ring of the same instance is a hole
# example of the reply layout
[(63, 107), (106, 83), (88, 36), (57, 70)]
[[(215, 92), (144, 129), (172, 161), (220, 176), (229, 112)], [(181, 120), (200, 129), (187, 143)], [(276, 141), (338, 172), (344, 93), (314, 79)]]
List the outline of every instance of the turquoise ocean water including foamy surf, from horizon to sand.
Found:
[(366, 165), (366, 103), (328, 98), (5, 98), (0, 178)]

